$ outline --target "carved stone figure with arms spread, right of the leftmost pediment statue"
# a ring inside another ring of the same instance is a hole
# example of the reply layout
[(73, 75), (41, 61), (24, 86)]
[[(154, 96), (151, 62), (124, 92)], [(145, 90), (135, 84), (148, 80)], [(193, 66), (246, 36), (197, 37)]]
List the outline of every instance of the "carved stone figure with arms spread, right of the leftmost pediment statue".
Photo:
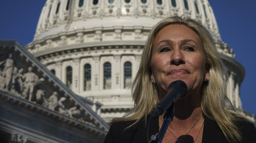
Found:
[(32, 72), (32, 67), (28, 68), (28, 72), (24, 74), (24, 85), (25, 85), (25, 94), (26, 97), (29, 95), (29, 101), (32, 100), (34, 86), (38, 81), (38, 76)]

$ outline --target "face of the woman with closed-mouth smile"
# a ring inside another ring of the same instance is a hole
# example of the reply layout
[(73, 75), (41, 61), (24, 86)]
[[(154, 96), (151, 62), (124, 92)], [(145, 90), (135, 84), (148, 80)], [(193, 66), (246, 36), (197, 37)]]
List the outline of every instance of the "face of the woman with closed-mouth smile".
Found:
[[(182, 80), (188, 93), (201, 94), (204, 77), (209, 77), (202, 41), (190, 28), (172, 24), (157, 34), (152, 49), (151, 79), (160, 89), (160, 99), (171, 82)], [(192, 91), (192, 92), (191, 92)]]

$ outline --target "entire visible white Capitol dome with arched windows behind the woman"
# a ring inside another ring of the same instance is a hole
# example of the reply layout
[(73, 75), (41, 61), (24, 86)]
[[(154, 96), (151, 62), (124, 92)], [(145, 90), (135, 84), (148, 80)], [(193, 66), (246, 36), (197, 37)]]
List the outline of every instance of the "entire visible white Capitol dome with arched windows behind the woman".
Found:
[(129, 86), (145, 40), (157, 22), (177, 15), (212, 33), (229, 73), (227, 95), (241, 109), (245, 70), (221, 40), (207, 0), (47, 0), (26, 49), (77, 95), (102, 103), (107, 120), (133, 107)]

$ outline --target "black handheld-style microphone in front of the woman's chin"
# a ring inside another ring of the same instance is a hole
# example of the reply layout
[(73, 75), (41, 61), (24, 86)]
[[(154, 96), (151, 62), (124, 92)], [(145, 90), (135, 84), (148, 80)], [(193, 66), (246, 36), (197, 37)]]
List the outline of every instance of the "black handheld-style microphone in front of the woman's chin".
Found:
[(176, 80), (172, 82), (168, 87), (167, 93), (156, 105), (150, 116), (152, 116), (153, 119), (156, 119), (157, 117), (162, 115), (163, 112), (165, 112), (170, 106), (172, 106), (177, 100), (183, 98), (186, 92), (187, 85), (185, 82), (181, 80)]

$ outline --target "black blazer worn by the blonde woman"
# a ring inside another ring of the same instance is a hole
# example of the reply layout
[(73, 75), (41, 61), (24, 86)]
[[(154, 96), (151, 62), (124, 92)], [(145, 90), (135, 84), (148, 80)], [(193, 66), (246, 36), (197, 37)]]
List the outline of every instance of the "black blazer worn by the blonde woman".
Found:
[[(136, 123), (127, 128), (134, 121), (113, 123), (103, 143), (148, 143), (145, 122)], [(252, 123), (238, 122), (238, 127), (244, 137), (243, 143), (256, 143), (256, 130)], [(149, 137), (159, 132), (158, 118), (152, 120)], [(204, 119), (202, 143), (228, 143), (218, 125), (208, 118)]]

